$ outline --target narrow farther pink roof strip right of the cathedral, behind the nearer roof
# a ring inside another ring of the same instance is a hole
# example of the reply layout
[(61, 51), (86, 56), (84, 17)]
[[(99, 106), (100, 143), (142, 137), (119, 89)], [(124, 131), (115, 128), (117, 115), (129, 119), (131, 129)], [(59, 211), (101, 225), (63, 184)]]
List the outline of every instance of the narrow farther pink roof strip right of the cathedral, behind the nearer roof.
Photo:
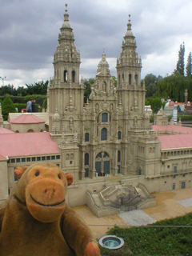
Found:
[(153, 130), (174, 132), (177, 134), (192, 134), (192, 128), (184, 126), (153, 126)]

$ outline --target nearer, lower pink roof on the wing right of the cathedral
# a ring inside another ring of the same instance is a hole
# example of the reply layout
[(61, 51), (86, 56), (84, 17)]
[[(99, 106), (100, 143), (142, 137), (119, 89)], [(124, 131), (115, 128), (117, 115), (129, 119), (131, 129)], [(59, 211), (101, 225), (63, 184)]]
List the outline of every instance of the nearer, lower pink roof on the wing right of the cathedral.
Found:
[(162, 142), (162, 150), (192, 147), (191, 134), (162, 135), (158, 139)]

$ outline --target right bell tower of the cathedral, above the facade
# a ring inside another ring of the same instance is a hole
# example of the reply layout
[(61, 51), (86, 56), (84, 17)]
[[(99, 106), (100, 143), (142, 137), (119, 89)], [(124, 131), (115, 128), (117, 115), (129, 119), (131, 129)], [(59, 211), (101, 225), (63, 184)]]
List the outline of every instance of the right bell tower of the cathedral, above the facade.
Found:
[(141, 84), (142, 59), (138, 57), (136, 48), (129, 15), (126, 34), (122, 41), (122, 52), (117, 59), (117, 92), (124, 112), (136, 111), (142, 115), (145, 111), (146, 90)]

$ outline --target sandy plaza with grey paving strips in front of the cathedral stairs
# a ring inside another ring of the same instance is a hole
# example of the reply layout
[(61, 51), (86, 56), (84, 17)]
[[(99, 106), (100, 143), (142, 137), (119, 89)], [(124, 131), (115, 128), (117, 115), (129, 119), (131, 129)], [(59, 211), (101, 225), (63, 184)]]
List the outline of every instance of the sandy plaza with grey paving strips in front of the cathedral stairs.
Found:
[(108, 217), (98, 218), (87, 206), (76, 206), (73, 209), (84, 218), (95, 238), (101, 238), (114, 225), (146, 225), (155, 220), (175, 218), (192, 212), (192, 188), (153, 195), (156, 197), (156, 206), (154, 207)]

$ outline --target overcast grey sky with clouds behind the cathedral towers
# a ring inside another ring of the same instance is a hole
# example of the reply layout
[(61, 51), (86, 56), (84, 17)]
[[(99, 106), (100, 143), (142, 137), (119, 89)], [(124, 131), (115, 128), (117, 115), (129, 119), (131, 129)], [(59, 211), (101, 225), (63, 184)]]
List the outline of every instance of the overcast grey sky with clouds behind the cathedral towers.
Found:
[[(128, 15), (146, 74), (171, 74), (185, 42), (192, 51), (191, 0), (0, 0), (0, 76), (25, 86), (54, 75), (53, 58), (68, 4), (74, 45), (81, 54), (80, 77), (91, 78), (105, 48), (110, 74), (122, 50)], [(2, 86), (2, 80), (0, 80)]]

